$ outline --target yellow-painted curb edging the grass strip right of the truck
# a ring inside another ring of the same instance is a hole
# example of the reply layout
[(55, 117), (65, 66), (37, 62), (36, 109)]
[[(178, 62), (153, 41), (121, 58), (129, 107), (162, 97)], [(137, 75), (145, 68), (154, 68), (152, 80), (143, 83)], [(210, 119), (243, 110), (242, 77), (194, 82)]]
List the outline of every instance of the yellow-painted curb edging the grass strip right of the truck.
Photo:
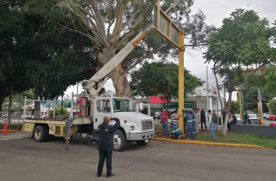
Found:
[(159, 141), (161, 141), (161, 140), (162, 141), (170, 141), (170, 142), (176, 142), (176, 143), (193, 143), (193, 144), (201, 144), (201, 145), (220, 145), (220, 146), (236, 146), (236, 147), (273, 149), (273, 148), (267, 148), (267, 147), (264, 147), (264, 146), (243, 145), (243, 144), (234, 144), (234, 143), (216, 143), (216, 142), (205, 142), (205, 141), (171, 140), (171, 139), (166, 139), (166, 138), (151, 138), (151, 139), (152, 140), (159, 140)]

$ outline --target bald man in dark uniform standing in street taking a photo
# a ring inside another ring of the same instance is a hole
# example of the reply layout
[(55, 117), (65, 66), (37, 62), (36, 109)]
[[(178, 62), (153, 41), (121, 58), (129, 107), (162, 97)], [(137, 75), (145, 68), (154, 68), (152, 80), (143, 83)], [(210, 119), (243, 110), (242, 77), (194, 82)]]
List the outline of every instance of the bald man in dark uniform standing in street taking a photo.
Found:
[[(111, 120), (115, 120), (114, 125), (109, 125)], [(103, 123), (98, 126), (99, 132), (99, 164), (98, 164), (98, 177), (102, 175), (104, 160), (106, 159), (107, 175), (106, 177), (112, 177), (114, 174), (112, 169), (112, 150), (113, 150), (113, 132), (120, 128), (120, 120), (116, 117), (109, 118), (103, 117)]]

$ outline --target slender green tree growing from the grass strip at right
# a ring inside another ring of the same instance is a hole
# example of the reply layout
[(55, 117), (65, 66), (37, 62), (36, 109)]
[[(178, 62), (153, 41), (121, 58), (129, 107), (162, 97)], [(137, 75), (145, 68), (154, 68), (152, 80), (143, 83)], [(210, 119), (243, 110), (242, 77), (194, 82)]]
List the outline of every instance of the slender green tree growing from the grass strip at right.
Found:
[[(266, 18), (260, 19), (253, 10), (236, 9), (230, 16), (213, 33), (204, 56), (205, 63), (214, 63), (212, 71), (215, 77), (218, 75), (226, 81), (224, 85), (229, 93), (227, 113), (230, 111), (232, 92), (237, 91), (237, 86), (241, 83), (248, 82), (257, 71), (245, 77), (241, 67), (258, 64), (259, 69), (275, 62), (275, 48), (270, 43), (275, 38), (275, 33), (274, 28), (269, 27), (269, 21)], [(219, 87), (218, 83), (217, 86)], [(225, 119), (228, 119), (228, 114)], [(223, 136), (226, 136), (226, 124), (227, 122), (222, 126)]]

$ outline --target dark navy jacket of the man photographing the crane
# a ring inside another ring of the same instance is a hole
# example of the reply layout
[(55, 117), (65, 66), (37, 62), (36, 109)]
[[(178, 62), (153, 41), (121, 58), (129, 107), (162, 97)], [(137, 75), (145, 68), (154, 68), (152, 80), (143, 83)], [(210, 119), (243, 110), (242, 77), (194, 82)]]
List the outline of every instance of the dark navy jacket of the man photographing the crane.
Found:
[(113, 149), (113, 132), (120, 128), (120, 120), (116, 118), (116, 123), (114, 125), (108, 125), (103, 122), (98, 126), (99, 141), (98, 148), (99, 151), (110, 151)]

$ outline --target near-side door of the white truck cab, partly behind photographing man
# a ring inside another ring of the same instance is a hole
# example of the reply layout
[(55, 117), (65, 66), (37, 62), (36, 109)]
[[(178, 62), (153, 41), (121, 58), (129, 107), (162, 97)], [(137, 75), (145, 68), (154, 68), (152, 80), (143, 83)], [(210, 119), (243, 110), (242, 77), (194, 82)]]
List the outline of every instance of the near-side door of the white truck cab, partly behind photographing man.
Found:
[[(103, 109), (100, 110), (100, 101), (103, 101)], [(110, 100), (106, 99), (106, 100), (97, 100), (96, 102), (97, 105), (97, 109), (94, 111), (95, 115), (94, 115), (94, 124), (93, 127), (94, 129), (98, 129), (98, 126), (100, 124), (102, 124), (103, 122), (103, 117), (108, 116), (111, 117), (112, 116), (112, 110), (111, 110), (111, 104), (110, 104)]]

